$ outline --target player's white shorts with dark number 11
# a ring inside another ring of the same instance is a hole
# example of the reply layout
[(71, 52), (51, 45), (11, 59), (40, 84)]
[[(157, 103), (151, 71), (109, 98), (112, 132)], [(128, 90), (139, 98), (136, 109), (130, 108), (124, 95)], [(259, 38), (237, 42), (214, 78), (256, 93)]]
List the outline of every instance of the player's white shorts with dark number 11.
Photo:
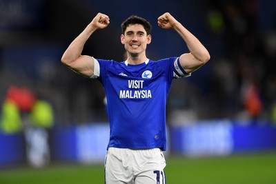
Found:
[(106, 152), (106, 184), (165, 184), (166, 160), (159, 148), (130, 150), (109, 147)]

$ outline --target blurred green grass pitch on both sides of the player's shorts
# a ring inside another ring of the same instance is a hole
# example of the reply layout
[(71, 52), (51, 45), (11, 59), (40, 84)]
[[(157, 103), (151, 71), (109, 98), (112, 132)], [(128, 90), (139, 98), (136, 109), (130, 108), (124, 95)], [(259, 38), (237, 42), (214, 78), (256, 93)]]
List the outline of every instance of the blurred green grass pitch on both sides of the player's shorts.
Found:
[[(170, 157), (165, 171), (168, 184), (275, 184), (276, 152), (194, 159)], [(103, 165), (2, 168), (0, 183), (103, 184)]]

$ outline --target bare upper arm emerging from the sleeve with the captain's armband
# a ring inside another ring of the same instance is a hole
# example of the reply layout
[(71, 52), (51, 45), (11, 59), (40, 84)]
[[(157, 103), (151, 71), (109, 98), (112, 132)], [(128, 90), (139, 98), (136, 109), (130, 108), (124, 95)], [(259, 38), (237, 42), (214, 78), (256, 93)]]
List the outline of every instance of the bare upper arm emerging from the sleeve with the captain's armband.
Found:
[(181, 67), (187, 73), (191, 73), (201, 67), (204, 63), (196, 59), (193, 54), (186, 53), (179, 57), (179, 63)]

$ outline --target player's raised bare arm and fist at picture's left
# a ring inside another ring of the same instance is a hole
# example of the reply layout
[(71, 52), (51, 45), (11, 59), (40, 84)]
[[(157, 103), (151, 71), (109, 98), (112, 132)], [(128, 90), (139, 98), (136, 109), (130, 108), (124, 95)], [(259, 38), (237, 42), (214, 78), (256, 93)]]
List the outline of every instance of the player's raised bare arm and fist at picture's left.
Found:
[(95, 30), (106, 28), (108, 24), (109, 17), (106, 14), (98, 13), (83, 32), (70, 43), (61, 57), (61, 63), (83, 76), (92, 76), (94, 74), (94, 60), (90, 56), (81, 55), (81, 52), (91, 34)]

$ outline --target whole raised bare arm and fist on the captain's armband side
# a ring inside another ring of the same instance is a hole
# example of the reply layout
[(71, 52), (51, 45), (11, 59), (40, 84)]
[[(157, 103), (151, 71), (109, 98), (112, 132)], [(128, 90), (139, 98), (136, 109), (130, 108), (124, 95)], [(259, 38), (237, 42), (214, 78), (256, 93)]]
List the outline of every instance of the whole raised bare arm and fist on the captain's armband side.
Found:
[(204, 45), (170, 13), (162, 14), (158, 18), (158, 25), (164, 29), (174, 29), (184, 39), (190, 53), (181, 54), (179, 62), (185, 72), (193, 72), (210, 60), (210, 54)]

